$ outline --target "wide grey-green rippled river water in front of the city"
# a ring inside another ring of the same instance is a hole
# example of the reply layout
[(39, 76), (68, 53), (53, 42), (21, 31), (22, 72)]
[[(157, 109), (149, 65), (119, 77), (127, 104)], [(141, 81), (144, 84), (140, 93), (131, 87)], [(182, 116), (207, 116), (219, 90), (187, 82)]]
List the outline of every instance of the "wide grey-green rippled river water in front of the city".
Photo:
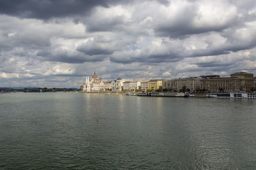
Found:
[(0, 169), (256, 169), (256, 99), (0, 94)]

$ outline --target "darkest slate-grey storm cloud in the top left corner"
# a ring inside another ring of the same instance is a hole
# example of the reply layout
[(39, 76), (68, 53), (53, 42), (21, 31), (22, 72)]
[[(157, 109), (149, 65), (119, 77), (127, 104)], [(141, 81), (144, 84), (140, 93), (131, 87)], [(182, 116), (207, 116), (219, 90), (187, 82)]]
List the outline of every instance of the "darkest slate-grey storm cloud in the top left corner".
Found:
[(121, 2), (117, 0), (3, 0), (0, 1), (0, 13), (47, 20), (52, 17), (82, 15), (90, 13), (95, 6), (108, 7)]

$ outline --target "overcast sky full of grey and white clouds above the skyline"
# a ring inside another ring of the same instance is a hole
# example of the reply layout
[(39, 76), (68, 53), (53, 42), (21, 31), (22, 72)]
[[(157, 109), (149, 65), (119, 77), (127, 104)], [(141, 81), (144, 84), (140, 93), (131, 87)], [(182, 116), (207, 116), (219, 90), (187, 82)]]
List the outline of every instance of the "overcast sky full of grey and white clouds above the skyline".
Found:
[(1, 0), (0, 87), (256, 74), (255, 0)]

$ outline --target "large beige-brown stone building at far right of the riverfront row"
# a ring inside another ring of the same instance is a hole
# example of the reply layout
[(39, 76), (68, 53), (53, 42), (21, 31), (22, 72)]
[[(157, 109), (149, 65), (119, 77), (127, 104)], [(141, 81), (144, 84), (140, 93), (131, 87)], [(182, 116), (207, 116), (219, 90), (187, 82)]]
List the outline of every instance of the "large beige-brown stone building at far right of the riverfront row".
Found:
[(252, 73), (237, 72), (225, 78), (204, 78), (201, 89), (209, 92), (250, 91), (254, 87)]

